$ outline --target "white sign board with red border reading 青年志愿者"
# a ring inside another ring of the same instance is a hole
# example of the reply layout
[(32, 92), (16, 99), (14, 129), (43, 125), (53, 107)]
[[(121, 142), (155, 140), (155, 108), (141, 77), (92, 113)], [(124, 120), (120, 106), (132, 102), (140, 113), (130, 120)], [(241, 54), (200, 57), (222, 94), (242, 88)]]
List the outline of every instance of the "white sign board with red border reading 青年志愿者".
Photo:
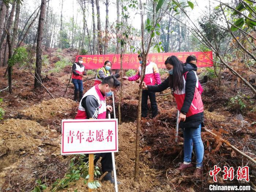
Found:
[(117, 119), (62, 120), (61, 155), (117, 151)]

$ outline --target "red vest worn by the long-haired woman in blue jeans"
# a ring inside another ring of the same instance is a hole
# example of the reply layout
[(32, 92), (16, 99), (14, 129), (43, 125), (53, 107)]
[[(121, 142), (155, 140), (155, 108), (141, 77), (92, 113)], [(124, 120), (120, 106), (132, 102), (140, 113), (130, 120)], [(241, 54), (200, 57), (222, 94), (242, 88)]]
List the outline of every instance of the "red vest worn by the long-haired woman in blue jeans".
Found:
[[(196, 75), (196, 72), (195, 71), (193, 71), (193, 72)], [(184, 103), (184, 99), (185, 99), (186, 80), (184, 78), (184, 75), (187, 75), (187, 73), (183, 74), (183, 82), (184, 82), (183, 89), (181, 91), (179, 89), (174, 91), (174, 98), (176, 100), (177, 108), (178, 108), (179, 111), (181, 110), (181, 108), (183, 106), (183, 103)], [(197, 113), (202, 113), (204, 111), (204, 106), (203, 106), (201, 94), (198, 90), (198, 83), (199, 83), (199, 81), (198, 81), (198, 77), (196, 75), (195, 94), (194, 94), (194, 98), (193, 98), (193, 101), (191, 103), (191, 106), (188, 110), (188, 113), (186, 114), (186, 117), (192, 116), (192, 115), (197, 114)]]

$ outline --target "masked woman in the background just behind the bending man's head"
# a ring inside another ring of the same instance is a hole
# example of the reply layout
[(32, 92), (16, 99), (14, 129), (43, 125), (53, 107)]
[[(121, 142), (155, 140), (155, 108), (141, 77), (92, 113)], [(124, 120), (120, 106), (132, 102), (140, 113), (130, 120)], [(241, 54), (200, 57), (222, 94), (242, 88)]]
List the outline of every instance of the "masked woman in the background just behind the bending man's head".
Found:
[[(115, 78), (119, 78), (121, 71), (118, 74), (115, 74)], [(94, 81), (94, 85), (100, 84), (102, 80), (111, 75), (111, 62), (105, 61), (104, 66), (97, 70), (97, 75)]]

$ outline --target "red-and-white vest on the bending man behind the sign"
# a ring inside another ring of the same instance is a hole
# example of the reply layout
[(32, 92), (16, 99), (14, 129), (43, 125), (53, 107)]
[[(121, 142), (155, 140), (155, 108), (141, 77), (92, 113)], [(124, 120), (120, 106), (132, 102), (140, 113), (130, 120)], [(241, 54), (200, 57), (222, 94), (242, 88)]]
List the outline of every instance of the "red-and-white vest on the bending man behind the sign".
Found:
[(75, 117), (75, 119), (88, 119), (85, 109), (82, 106), (82, 100), (84, 97), (87, 97), (89, 95), (93, 95), (97, 101), (98, 101), (98, 108), (95, 110), (93, 118), (106, 118), (106, 97), (101, 94), (101, 91), (99, 90), (98, 85), (93, 86), (91, 89), (89, 89), (82, 97), (79, 107), (78, 107), (78, 113)]

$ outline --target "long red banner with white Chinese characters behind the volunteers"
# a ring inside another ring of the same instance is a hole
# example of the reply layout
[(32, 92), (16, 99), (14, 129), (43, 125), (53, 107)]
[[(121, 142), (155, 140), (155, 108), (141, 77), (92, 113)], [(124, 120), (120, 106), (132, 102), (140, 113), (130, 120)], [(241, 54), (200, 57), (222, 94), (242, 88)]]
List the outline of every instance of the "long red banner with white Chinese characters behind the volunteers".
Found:
[[(175, 55), (183, 63), (189, 55), (194, 55), (197, 58), (197, 67), (212, 67), (212, 52), (180, 52), (180, 53), (148, 53), (148, 60), (157, 64), (158, 68), (165, 68), (165, 60), (167, 57)], [(105, 54), (105, 55), (78, 55), (83, 57), (83, 63), (86, 69), (98, 69), (104, 65), (105, 61), (112, 63), (112, 69), (120, 69), (120, 54)], [(140, 66), (138, 54), (124, 54), (123, 69), (137, 69)]]

